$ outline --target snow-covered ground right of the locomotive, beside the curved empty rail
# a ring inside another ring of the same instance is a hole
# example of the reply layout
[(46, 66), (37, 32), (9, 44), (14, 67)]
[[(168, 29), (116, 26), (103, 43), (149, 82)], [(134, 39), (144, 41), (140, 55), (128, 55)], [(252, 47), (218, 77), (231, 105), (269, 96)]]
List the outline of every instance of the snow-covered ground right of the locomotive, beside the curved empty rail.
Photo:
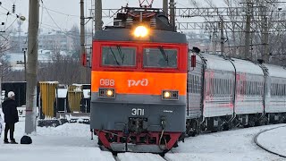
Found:
[[(167, 160), (217, 160), (217, 161), (282, 161), (285, 158), (276, 157), (257, 147), (253, 138), (259, 132), (283, 124), (267, 125), (261, 127), (237, 129), (199, 135), (180, 143), (173, 153), (166, 154)], [(285, 124), (284, 124), (285, 125)], [(285, 131), (284, 131), (285, 133)], [(280, 133), (277, 135), (284, 135)], [(268, 136), (269, 140), (276, 140)], [(279, 139), (278, 139), (279, 140)], [(286, 146), (284, 146), (284, 149)]]

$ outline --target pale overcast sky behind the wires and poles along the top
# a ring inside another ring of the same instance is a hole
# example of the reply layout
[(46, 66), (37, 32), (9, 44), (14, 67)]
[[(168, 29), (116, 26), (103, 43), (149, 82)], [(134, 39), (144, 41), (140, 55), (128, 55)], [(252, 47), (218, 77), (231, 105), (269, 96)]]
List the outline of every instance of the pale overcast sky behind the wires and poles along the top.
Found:
[[(2, 2), (2, 5), (0, 6), (0, 22), (5, 22), (7, 19), (6, 26), (0, 27), (0, 30), (4, 30), (4, 27), (8, 28), (15, 20), (15, 15), (6, 16), (6, 13), (8, 12), (7, 10), (10, 12), (12, 11), (13, 4), (16, 5), (16, 13), (21, 14), (27, 18), (21, 27), (22, 30), (27, 30), (29, 18), (29, 0), (0, 0), (0, 2)], [(153, 6), (161, 8), (162, 2), (163, 0), (155, 0)], [(103, 8), (117, 9), (125, 6), (127, 3), (129, 6), (139, 6), (138, 0), (103, 0)], [(177, 7), (189, 6), (189, 0), (178, 0), (176, 3)], [(40, 7), (39, 11), (41, 23), (40, 28), (42, 30), (70, 30), (71, 26), (74, 24), (80, 27), (80, 0), (43, 0), (43, 4), (44, 5)], [(89, 16), (88, 9), (90, 8), (91, 0), (85, 0), (85, 16)], [(55, 10), (59, 13), (55, 13), (51, 10)], [(53, 17), (55, 22), (51, 17)], [(43, 19), (41, 20), (41, 18)], [(104, 21), (105, 24), (107, 24), (112, 20)], [(89, 23), (87, 26), (88, 28), (91, 28), (91, 23)], [(17, 21), (13, 23), (12, 27), (14, 29), (18, 27)]]

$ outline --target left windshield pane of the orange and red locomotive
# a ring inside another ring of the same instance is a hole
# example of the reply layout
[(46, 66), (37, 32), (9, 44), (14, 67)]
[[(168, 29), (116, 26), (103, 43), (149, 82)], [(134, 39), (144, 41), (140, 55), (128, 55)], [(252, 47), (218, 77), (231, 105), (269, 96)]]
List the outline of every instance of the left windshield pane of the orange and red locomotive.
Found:
[(135, 66), (135, 47), (102, 47), (102, 63), (108, 66)]

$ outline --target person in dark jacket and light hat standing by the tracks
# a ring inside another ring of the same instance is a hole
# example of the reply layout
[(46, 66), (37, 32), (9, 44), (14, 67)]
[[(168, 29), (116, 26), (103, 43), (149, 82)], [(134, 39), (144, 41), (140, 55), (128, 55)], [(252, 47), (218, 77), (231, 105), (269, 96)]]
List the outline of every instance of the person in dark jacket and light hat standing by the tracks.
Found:
[(19, 116), (17, 111), (17, 104), (15, 101), (15, 94), (13, 91), (8, 93), (8, 97), (4, 98), (2, 103), (4, 113), (4, 143), (10, 143), (7, 138), (8, 131), (10, 131), (10, 140), (12, 144), (18, 144), (14, 139), (15, 123), (19, 122)]

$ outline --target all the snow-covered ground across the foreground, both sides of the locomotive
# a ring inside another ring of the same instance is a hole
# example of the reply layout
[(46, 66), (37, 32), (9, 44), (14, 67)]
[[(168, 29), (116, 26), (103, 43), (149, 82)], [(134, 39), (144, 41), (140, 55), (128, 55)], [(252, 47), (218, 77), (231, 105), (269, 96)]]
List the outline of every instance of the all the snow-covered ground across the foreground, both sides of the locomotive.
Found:
[[(20, 142), (24, 134), (23, 120), (16, 123), (15, 138)], [(253, 137), (259, 131), (286, 124), (267, 125), (248, 129), (222, 131), (216, 133), (201, 134), (194, 138), (188, 138), (179, 148), (173, 148), (164, 158), (153, 154), (122, 153), (114, 158), (112, 153), (101, 151), (97, 147), (97, 137), (90, 140), (89, 125), (82, 123), (65, 123), (62, 126), (38, 127), (37, 134), (32, 137), (31, 145), (3, 144), (3, 136), (0, 140), (0, 161), (89, 161), (89, 160), (172, 160), (172, 161), (282, 161), (282, 157), (276, 157), (257, 147)], [(259, 136), (259, 141), (265, 140), (265, 144), (271, 148), (284, 149), (285, 153), (286, 128), (269, 131)], [(281, 147), (279, 143), (283, 143)]]

